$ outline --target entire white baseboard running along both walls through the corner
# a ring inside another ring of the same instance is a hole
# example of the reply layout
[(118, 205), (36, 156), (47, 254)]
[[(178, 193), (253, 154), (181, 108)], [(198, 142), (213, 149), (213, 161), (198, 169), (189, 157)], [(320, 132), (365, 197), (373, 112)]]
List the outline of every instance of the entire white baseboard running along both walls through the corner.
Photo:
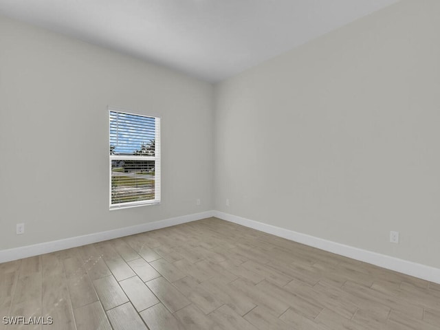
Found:
[(58, 241), (50, 241), (45, 243), (39, 243), (34, 245), (27, 245), (20, 248), (12, 248), (8, 250), (0, 250), (0, 263), (7, 261), (13, 261), (22, 258), (28, 258), (30, 256), (37, 256), (39, 254), (45, 254), (55, 252), (59, 250), (65, 250), (69, 248), (76, 248), (77, 246), (96, 243), (100, 241), (106, 241), (107, 239), (116, 239), (118, 237), (128, 236), (132, 234), (138, 234), (140, 232), (148, 232), (150, 230), (156, 230), (160, 228), (170, 227), (172, 225), (179, 225), (181, 223), (187, 223), (200, 219), (206, 219), (209, 217), (217, 217), (225, 221), (238, 223), (245, 227), (267, 232), (275, 236), (289, 239), (305, 245), (313, 246), (321, 250), (340, 254), (341, 256), (347, 256), (351, 259), (358, 261), (364, 261), (377, 265), (388, 270), (394, 270), (423, 280), (440, 284), (440, 269), (430, 267), (427, 265), (421, 265), (420, 263), (413, 263), (412, 261), (406, 261), (404, 259), (398, 259), (393, 256), (386, 256), (377, 252), (371, 252), (368, 250), (362, 250), (360, 248), (354, 248), (353, 246), (336, 243), (333, 241), (327, 241), (315, 236), (302, 234), (300, 232), (294, 232), (293, 230), (287, 230), (284, 228), (276, 227), (274, 225), (268, 225), (258, 221), (238, 217), (236, 215), (228, 214), (220, 211), (206, 211), (195, 214), (188, 214), (181, 217), (175, 217), (170, 219), (164, 219), (149, 223), (142, 223), (142, 225), (133, 225), (131, 227), (119, 228), (115, 230), (108, 230), (106, 232), (96, 232), (94, 234), (87, 234), (84, 236), (76, 236), (68, 239), (60, 239)]

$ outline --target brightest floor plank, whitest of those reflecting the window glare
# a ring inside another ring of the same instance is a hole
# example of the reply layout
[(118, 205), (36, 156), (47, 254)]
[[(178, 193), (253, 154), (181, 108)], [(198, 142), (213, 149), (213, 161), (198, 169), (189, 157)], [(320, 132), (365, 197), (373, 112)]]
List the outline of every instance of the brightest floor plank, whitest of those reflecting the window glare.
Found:
[(143, 311), (159, 303), (153, 292), (137, 276), (120, 281), (119, 284), (137, 311)]

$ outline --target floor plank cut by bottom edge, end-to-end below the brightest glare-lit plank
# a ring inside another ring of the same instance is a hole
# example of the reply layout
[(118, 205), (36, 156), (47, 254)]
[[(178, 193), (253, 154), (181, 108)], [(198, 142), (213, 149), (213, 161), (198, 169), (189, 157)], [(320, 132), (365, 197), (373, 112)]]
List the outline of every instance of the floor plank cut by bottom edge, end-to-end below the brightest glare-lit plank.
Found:
[(166, 309), (162, 303), (154, 305), (144, 311), (140, 312), (140, 316), (148, 326), (150, 330), (184, 330), (184, 326), (181, 324), (173, 314)]

